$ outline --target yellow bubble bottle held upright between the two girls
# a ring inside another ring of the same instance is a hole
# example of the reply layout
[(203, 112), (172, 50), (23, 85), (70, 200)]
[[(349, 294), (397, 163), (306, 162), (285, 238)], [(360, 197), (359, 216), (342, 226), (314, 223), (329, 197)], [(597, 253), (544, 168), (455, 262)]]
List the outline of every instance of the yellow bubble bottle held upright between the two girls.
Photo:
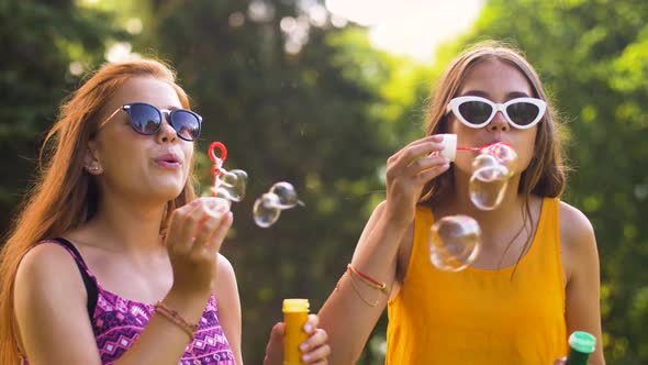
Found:
[(286, 323), (283, 365), (302, 365), (299, 345), (309, 339), (304, 324), (309, 319), (309, 299), (283, 299)]

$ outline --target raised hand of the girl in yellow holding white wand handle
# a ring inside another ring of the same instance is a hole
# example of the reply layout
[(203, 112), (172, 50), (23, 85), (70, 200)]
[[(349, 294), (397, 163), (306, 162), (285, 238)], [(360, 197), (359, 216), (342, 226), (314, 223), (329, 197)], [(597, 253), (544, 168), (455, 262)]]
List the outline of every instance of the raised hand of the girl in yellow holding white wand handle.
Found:
[(438, 155), (442, 135), (414, 141), (387, 161), (387, 207), (390, 218), (409, 224), (425, 184), (445, 173), (450, 161)]

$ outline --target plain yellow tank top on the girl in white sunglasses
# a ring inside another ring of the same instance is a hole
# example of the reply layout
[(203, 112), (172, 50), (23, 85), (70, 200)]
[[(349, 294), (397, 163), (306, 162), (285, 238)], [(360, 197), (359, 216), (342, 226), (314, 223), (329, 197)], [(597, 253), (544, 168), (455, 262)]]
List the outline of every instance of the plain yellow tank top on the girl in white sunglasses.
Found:
[(567, 355), (558, 199), (544, 199), (513, 277), (513, 266), (436, 269), (433, 222), (429, 208), (418, 207), (405, 280), (388, 305), (387, 364), (550, 365)]

